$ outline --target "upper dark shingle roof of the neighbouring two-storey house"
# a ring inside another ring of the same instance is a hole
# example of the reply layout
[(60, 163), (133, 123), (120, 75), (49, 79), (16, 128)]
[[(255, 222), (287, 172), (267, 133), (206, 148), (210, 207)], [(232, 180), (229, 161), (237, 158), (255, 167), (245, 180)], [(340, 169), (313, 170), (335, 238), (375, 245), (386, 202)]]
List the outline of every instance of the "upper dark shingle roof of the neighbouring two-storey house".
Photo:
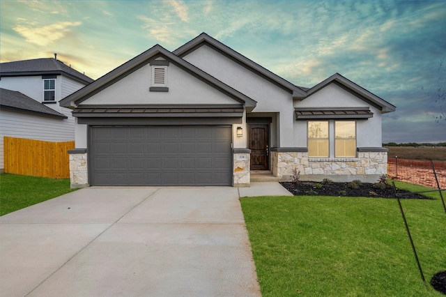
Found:
[(32, 60), (22, 60), (0, 63), (1, 76), (17, 76), (17, 75), (49, 75), (63, 74), (73, 79), (89, 84), (94, 81), (79, 71), (66, 66), (62, 61), (53, 58), (41, 58)]

